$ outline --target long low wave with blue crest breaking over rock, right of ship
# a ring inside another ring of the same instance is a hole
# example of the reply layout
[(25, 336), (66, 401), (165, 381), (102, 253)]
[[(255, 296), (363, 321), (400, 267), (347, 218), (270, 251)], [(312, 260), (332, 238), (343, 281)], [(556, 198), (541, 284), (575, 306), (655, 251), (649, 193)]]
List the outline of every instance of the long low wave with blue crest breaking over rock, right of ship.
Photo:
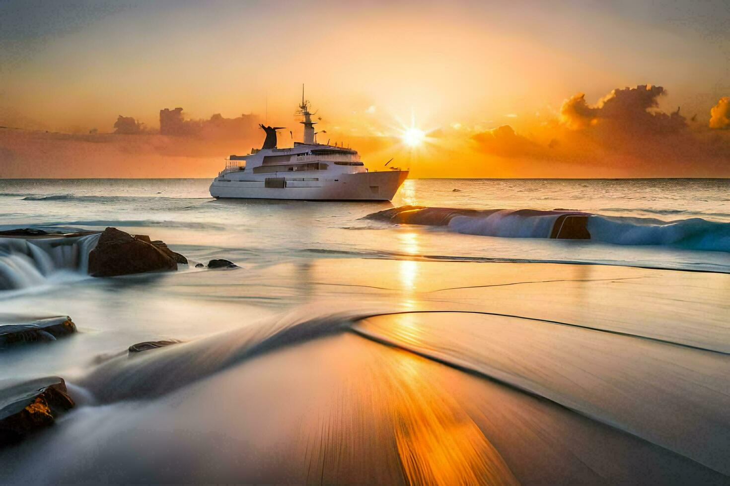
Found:
[(730, 223), (702, 218), (662, 221), (580, 211), (473, 210), (401, 206), (366, 216), (399, 224), (446, 227), (466, 235), (595, 240), (616, 245), (676, 246), (730, 251)]

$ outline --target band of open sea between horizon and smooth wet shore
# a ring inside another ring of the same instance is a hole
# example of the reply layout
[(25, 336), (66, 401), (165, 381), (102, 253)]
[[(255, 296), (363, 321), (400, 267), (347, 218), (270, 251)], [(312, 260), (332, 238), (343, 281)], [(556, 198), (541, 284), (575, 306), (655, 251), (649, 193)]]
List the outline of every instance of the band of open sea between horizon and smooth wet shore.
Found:
[[(726, 179), (408, 180), (392, 204), (214, 200), (207, 191), (209, 183), (207, 179), (0, 181), (0, 228), (115, 226), (150, 233), (184, 248), (193, 258), (204, 258), (216, 248), (230, 259), (260, 262), (331, 254), (730, 269)], [(497, 215), (455, 221), (445, 228), (399, 227), (362, 219), (393, 205), (585, 211), (597, 215), (591, 234), (601, 240), (548, 240), (544, 232), (532, 234), (539, 218)]]

